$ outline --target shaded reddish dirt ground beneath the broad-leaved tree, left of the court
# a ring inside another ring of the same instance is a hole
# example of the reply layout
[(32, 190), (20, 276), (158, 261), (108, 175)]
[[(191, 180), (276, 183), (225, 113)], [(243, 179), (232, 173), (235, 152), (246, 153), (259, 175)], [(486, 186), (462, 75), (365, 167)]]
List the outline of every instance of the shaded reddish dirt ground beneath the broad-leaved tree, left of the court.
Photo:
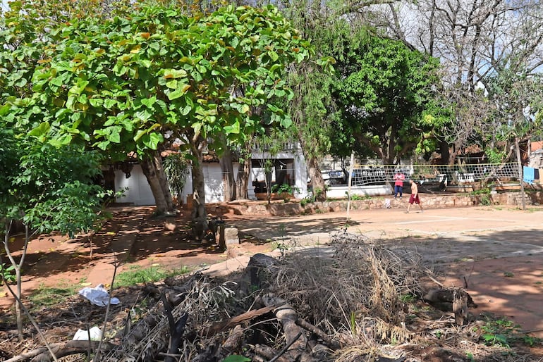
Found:
[[(152, 218), (152, 207), (111, 208), (114, 218), (90, 237), (69, 239), (63, 235), (46, 235), (32, 239), (23, 267), (23, 295), (39, 287), (58, 285), (110, 285), (116, 273), (133, 266), (142, 268), (205, 269), (233, 256), (270, 251), (270, 246), (250, 236), (240, 235), (240, 245), (227, 252), (218, 251), (214, 243), (190, 237), (190, 213), (174, 218)], [(23, 235), (11, 243), (18, 258)], [(2, 251), (4, 251), (2, 249)], [(5, 253), (5, 252), (4, 252)], [(0, 254), (4, 263), (9, 263)], [(0, 289), (0, 311), (9, 308), (13, 298), (6, 287)]]

